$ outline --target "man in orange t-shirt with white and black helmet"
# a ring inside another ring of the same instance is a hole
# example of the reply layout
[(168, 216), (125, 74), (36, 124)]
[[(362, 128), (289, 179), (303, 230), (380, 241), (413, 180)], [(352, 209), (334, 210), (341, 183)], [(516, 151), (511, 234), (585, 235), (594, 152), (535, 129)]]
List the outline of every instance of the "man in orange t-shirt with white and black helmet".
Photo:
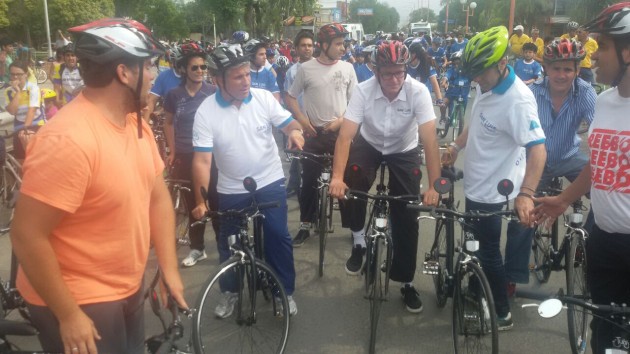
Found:
[(161, 46), (132, 20), (71, 32), (86, 88), (28, 146), (11, 230), (18, 289), (44, 351), (143, 353), (150, 245), (187, 307), (164, 165), (137, 113)]

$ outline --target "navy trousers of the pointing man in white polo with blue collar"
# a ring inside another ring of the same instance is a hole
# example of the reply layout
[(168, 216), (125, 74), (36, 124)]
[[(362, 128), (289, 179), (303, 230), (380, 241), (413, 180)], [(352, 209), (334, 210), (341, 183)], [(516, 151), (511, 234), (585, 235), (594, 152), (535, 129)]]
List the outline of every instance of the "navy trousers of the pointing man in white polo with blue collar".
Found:
[[(293, 246), (287, 226), (287, 192), (284, 186), (284, 178), (273, 182), (254, 192), (253, 197), (258, 203), (279, 201), (280, 206), (262, 211), (264, 218), (263, 239), (265, 248), (265, 262), (276, 272), (287, 295), (292, 295), (295, 290), (295, 265), (293, 263)], [(252, 203), (252, 194), (221, 194), (219, 193), (219, 210), (243, 209)], [(221, 230), (217, 237), (217, 249), (219, 262), (223, 263), (230, 258), (228, 236), (238, 233), (238, 224), (229, 219), (221, 220)], [(235, 291), (236, 279), (223, 277), (221, 279), (221, 291)]]

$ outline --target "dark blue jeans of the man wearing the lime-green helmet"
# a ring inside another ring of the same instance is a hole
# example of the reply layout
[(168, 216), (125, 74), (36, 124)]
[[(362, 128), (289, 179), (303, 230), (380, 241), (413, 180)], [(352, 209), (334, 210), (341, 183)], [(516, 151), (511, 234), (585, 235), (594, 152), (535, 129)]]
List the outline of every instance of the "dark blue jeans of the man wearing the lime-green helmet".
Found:
[[(478, 203), (466, 198), (466, 211), (480, 210), (493, 212), (501, 210), (505, 203), (487, 204)], [(501, 256), (501, 221), (500, 216), (491, 218), (483, 218), (471, 220), (469, 225), (470, 231), (475, 235), (475, 239), (479, 240), (479, 251), (477, 257), (481, 261), (483, 272), (488, 278), (494, 305), (497, 310), (498, 317), (505, 317), (510, 312), (510, 304), (507, 295), (507, 278), (505, 276), (505, 267), (503, 266), (503, 257)], [(508, 224), (508, 240), (514, 237), (523, 228), (518, 222), (513, 221)], [(531, 243), (530, 243), (531, 245)]]

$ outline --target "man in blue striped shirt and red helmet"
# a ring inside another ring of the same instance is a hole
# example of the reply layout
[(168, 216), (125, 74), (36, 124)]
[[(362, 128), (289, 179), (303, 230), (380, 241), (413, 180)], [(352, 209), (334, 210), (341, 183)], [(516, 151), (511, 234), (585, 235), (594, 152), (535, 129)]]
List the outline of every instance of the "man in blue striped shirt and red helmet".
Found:
[[(573, 182), (588, 163), (580, 151), (577, 130), (582, 121), (590, 124), (595, 111), (593, 87), (578, 77), (584, 51), (579, 42), (562, 39), (553, 41), (545, 50), (546, 77), (540, 84), (530, 85), (538, 105), (538, 117), (545, 132), (547, 161), (538, 184), (543, 190), (554, 177), (566, 177)], [(531, 191), (532, 193), (534, 191)], [(585, 227), (592, 225), (589, 214)], [(529, 256), (534, 229), (525, 238), (509, 238), (505, 246), (505, 272), (508, 294), (516, 283), (529, 281)]]

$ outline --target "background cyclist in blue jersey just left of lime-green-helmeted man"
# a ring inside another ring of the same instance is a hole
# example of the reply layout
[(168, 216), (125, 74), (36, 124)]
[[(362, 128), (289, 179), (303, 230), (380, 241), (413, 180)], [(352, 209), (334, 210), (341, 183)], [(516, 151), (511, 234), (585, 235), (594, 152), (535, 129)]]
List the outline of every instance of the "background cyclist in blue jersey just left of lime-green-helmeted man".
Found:
[[(468, 93), (470, 92), (470, 79), (462, 73), (460, 64), (463, 52), (456, 52), (451, 55), (451, 67), (446, 70), (446, 75), (442, 78), (442, 87), (446, 88), (446, 98), (444, 104), (440, 107), (440, 121), (438, 128), (444, 127), (446, 119), (446, 109), (449, 114), (453, 112), (455, 100), (461, 96), (464, 99), (464, 107), (468, 105)], [(465, 110), (464, 110), (465, 111)], [(464, 117), (460, 117), (464, 119)]]

